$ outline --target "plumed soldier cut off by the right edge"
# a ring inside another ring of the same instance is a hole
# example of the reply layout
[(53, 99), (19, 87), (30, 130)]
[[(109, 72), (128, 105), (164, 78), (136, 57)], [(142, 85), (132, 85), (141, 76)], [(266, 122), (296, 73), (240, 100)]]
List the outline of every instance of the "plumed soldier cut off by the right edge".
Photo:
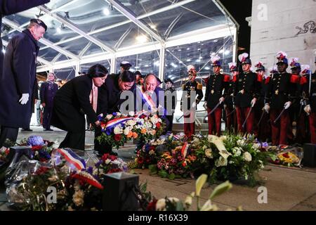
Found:
[(309, 70), (309, 66), (303, 68), (302, 72), (305, 73), (306, 76), (301, 83), (304, 83), (303, 104), (310, 125), (310, 143), (316, 144), (316, 72), (310, 75), (311, 72)]

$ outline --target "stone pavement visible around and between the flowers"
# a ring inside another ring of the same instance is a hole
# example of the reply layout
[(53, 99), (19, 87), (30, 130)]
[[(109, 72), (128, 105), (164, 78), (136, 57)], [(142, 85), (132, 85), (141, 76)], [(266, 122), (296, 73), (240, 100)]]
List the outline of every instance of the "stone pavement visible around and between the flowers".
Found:
[[(50, 141), (65, 137), (65, 132), (57, 130), (46, 132), (38, 127), (31, 127), (34, 132), (20, 132), (18, 139), (27, 138), (30, 135), (41, 135)], [(86, 148), (93, 148), (93, 132), (86, 132)], [(129, 161), (135, 156), (133, 143), (121, 148), (119, 157)], [(185, 200), (185, 197), (195, 191), (195, 180), (193, 179), (162, 179), (159, 176), (150, 176), (148, 169), (135, 169), (134, 172), (140, 176), (140, 183), (147, 183), (147, 190), (156, 198), (176, 197)], [(268, 203), (258, 203), (258, 186), (233, 185), (227, 193), (218, 196), (215, 203), (220, 210), (235, 210), (241, 206), (243, 210), (305, 210), (316, 211), (316, 169), (315, 168), (287, 168), (268, 165), (260, 172), (263, 184), (268, 191)], [(201, 197), (204, 203), (215, 186), (204, 186)], [(6, 207), (6, 195), (4, 188), (0, 187), (0, 210), (9, 210)], [(191, 210), (195, 210), (195, 202)]]

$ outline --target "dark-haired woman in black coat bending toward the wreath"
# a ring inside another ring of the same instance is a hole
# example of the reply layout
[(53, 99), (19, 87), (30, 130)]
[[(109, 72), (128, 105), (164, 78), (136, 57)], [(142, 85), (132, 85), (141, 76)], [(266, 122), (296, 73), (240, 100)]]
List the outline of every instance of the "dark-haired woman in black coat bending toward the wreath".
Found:
[(51, 124), (67, 131), (60, 148), (84, 150), (86, 114), (91, 124), (100, 126), (96, 112), (90, 102), (91, 90), (101, 86), (107, 78), (107, 69), (100, 64), (93, 65), (87, 75), (75, 77), (56, 93), (53, 103)]

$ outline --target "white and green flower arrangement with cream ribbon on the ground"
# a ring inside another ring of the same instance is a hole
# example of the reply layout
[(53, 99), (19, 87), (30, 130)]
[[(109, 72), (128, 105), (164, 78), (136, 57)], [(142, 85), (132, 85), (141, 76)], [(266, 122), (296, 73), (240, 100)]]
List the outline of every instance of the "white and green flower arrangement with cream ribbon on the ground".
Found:
[(251, 186), (256, 184), (255, 175), (263, 169), (267, 153), (254, 137), (208, 136), (193, 142), (198, 159), (195, 169), (209, 173), (211, 183), (244, 179)]

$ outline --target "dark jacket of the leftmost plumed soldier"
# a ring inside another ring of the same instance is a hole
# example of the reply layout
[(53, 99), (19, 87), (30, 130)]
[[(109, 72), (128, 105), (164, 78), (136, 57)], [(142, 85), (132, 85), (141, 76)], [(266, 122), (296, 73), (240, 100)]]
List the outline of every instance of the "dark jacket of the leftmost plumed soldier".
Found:
[[(203, 98), (203, 91), (202, 91), (202, 84), (199, 84), (198, 82), (187, 82), (186, 84), (183, 84), (183, 98), (181, 100), (181, 107), (183, 105), (183, 101), (187, 101), (187, 108), (191, 105), (191, 95), (193, 94), (192, 91), (196, 91), (196, 99), (195, 102), (198, 104), (202, 98)], [(194, 101), (192, 101), (193, 103)]]

